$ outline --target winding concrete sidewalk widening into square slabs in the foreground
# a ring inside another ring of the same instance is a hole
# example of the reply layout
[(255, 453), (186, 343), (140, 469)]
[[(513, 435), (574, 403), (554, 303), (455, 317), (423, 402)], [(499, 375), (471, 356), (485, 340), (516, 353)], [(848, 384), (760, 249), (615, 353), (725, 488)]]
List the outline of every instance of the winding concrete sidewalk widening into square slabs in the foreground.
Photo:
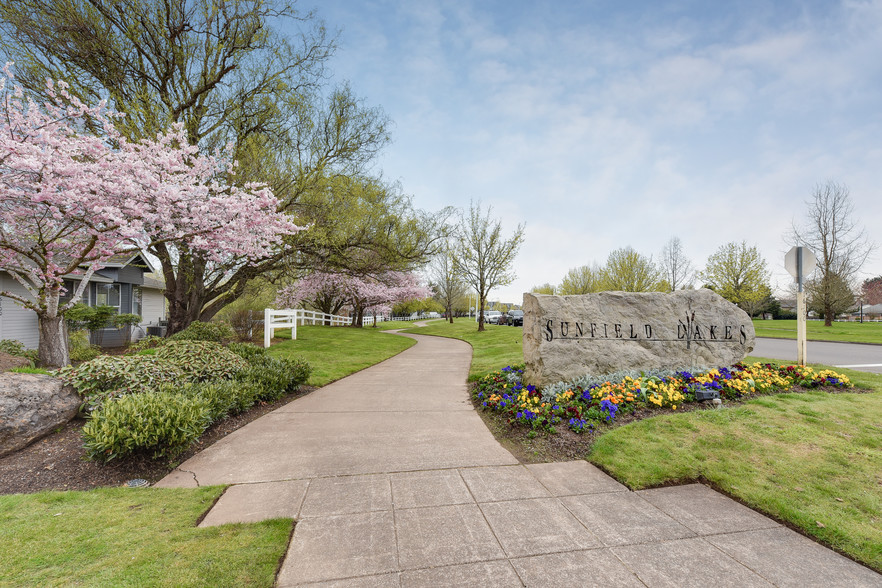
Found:
[(278, 586), (882, 586), (705, 486), (519, 465), (471, 407), (468, 344), (414, 338), (157, 486), (232, 484), (203, 526), (295, 518)]

